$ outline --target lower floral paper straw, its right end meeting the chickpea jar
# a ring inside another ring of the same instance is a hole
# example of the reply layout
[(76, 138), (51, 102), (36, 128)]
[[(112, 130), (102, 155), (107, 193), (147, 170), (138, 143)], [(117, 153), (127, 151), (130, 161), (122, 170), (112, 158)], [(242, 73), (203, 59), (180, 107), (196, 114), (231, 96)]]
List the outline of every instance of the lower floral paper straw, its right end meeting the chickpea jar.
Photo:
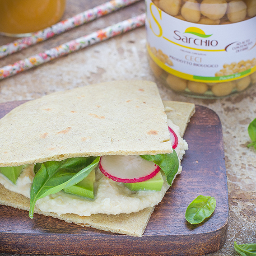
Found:
[(15, 62), (13, 65), (6, 65), (0, 68), (0, 80), (18, 74), (24, 70), (31, 69), (58, 57), (67, 55), (71, 52), (78, 51), (97, 42), (107, 40), (127, 31), (144, 26), (146, 15), (141, 14), (131, 19), (126, 19), (107, 28), (100, 29), (89, 35), (79, 37), (70, 42), (61, 44), (58, 47), (51, 48), (37, 55), (30, 56), (23, 60)]

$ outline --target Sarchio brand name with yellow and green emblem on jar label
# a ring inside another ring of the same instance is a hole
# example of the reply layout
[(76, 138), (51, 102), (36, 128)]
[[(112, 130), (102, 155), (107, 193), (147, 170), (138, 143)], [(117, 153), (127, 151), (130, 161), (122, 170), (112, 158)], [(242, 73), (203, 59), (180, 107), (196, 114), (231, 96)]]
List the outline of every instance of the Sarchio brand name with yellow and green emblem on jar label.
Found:
[[(190, 35), (186, 36), (184, 34), (190, 34), (193, 35), (191, 37)], [(195, 27), (189, 27), (186, 28), (184, 33), (181, 33), (178, 30), (174, 31), (174, 39), (177, 41), (182, 41), (187, 44), (192, 44), (196, 46), (206, 46), (206, 47), (215, 47), (218, 45), (218, 41), (213, 39), (206, 39), (211, 37), (213, 34), (207, 35), (205, 32), (200, 28)]]

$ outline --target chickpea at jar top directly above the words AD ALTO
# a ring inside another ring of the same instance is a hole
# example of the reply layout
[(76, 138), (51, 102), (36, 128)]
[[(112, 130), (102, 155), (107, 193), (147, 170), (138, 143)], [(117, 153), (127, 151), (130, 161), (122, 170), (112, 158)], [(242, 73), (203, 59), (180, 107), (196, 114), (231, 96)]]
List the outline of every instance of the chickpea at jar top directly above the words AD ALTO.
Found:
[(245, 19), (247, 14), (247, 5), (242, 0), (233, 0), (228, 3), (227, 16), (232, 23)]

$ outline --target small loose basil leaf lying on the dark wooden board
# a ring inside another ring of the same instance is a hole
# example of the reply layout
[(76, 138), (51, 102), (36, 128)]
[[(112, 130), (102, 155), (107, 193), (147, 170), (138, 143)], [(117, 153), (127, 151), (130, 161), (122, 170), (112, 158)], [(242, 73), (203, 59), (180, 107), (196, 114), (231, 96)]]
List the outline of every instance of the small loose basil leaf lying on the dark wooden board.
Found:
[(213, 196), (199, 195), (186, 209), (185, 218), (191, 224), (201, 223), (211, 216), (216, 207), (216, 199)]

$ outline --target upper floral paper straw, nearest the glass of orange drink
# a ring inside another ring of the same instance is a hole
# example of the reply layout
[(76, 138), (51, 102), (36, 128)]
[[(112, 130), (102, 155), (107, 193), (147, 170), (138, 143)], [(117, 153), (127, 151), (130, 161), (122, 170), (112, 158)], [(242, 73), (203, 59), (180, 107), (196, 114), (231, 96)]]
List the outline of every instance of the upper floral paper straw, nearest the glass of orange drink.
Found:
[(58, 22), (51, 27), (35, 32), (29, 37), (23, 37), (15, 40), (14, 42), (1, 46), (0, 58), (8, 56), (17, 51), (21, 51), (22, 49), (37, 44), (38, 42), (47, 40), (71, 28), (75, 28), (94, 19), (98, 19), (103, 15), (112, 13), (138, 1), (140, 0), (111, 0), (102, 5), (98, 5), (93, 9), (86, 10), (80, 14), (75, 15), (74, 17)]

